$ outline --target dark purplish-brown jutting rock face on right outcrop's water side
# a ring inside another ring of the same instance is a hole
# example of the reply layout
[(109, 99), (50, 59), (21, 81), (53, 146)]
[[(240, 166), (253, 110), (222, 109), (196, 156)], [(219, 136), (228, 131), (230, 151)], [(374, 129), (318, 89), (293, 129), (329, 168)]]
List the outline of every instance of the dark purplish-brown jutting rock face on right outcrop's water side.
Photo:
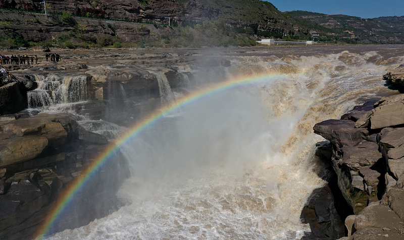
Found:
[(377, 143), (366, 141), (369, 131), (355, 128), (355, 122), (351, 120), (324, 121), (314, 126), (314, 132), (331, 142), (331, 161), (341, 193), (355, 213), (361, 211), (370, 199), (377, 196), (377, 179), (372, 178), (369, 187), (364, 174), (360, 173), (361, 169), (365, 172), (364, 167), (374, 166), (382, 157)]

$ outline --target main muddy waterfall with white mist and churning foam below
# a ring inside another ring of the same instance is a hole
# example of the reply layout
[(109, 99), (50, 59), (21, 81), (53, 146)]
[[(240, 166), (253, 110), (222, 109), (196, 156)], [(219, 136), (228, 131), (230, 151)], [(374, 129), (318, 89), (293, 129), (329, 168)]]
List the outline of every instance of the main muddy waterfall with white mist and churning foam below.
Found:
[[(182, 107), (122, 147), (128, 204), (49, 239), (300, 239), (301, 209), (324, 183), (315, 123), (384, 91), (377, 55), (238, 57), (229, 75), (279, 72)], [(104, 131), (86, 123), (88, 129)]]

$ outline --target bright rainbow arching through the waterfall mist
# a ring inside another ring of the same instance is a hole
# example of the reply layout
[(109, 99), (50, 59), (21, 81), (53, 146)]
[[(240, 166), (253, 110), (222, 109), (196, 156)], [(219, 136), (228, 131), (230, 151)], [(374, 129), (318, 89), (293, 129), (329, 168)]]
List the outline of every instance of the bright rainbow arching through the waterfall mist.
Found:
[(238, 86), (244, 86), (254, 83), (267, 82), (281, 77), (280, 73), (266, 73), (260, 75), (243, 76), (233, 80), (220, 82), (217, 84), (209, 85), (206, 88), (194, 91), (180, 99), (176, 99), (175, 103), (162, 107), (159, 110), (149, 114), (142, 121), (139, 121), (130, 128), (123, 136), (111, 143), (102, 153), (96, 157), (92, 163), (82, 171), (81, 175), (77, 177), (72, 184), (59, 196), (53, 209), (48, 213), (44, 222), (38, 228), (34, 235), (34, 239), (44, 239), (49, 233), (58, 217), (63, 213), (68, 204), (72, 201), (75, 194), (82, 189), (82, 187), (89, 181), (89, 179), (99, 170), (109, 159), (112, 158), (120, 147), (131, 139), (135, 138), (145, 128), (157, 122), (165, 115), (176, 110), (179, 107), (195, 102), (203, 97), (232, 89)]

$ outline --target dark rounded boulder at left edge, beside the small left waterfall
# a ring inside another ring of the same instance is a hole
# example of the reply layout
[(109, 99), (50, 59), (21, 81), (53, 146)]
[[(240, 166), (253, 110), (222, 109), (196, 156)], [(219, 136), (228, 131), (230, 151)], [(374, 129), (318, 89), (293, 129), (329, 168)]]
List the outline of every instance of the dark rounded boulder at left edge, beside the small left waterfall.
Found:
[(0, 115), (16, 113), (27, 108), (27, 90), (24, 84), (12, 82), (0, 87)]

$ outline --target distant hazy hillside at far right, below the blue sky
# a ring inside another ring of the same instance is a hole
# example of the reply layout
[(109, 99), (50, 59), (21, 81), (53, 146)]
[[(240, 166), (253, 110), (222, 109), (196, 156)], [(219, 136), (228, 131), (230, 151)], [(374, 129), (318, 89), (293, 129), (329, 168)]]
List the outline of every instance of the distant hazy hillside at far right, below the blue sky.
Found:
[(307, 21), (322, 26), (326, 36), (343, 39), (357, 38), (363, 43), (404, 42), (404, 16), (363, 19), (346, 15), (326, 15), (306, 11), (286, 12), (297, 21)]

